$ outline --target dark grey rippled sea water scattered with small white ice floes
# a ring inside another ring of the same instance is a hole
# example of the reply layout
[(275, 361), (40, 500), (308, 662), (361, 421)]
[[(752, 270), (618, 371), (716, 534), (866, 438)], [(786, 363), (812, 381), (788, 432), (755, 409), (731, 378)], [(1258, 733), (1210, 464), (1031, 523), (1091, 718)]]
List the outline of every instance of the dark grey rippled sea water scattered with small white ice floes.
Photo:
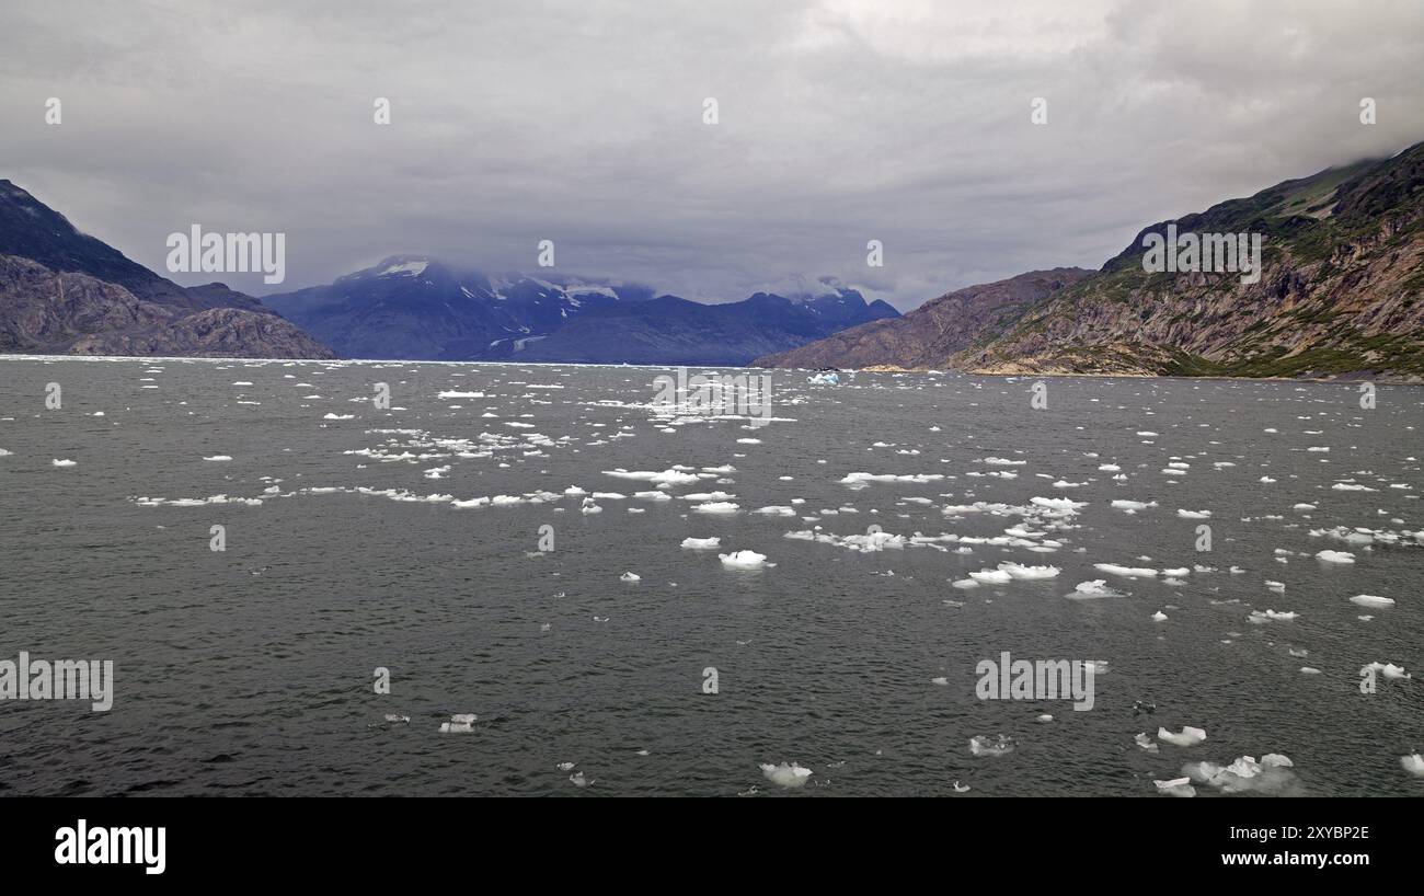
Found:
[[(1418, 681), (1360, 687), (1424, 668), (1424, 389), (773, 372), (752, 427), (659, 373), (0, 360), (0, 660), (115, 675), (0, 701), (0, 793), (1424, 792)], [(1101, 662), (1094, 708), (980, 699), (1004, 651)]]

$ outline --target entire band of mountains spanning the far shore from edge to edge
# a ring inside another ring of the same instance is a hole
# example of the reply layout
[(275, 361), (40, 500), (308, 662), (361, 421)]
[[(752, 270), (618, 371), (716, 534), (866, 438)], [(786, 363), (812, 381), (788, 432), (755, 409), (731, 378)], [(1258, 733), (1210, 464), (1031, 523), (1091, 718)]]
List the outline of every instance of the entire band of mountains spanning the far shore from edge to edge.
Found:
[[(1145, 269), (1145, 246), (1178, 234), (1260, 236), (1259, 276)], [(1152, 224), (1098, 271), (903, 316), (830, 279), (708, 305), (423, 255), (259, 301), (179, 286), (0, 179), (0, 352), (1420, 380), (1421, 292), (1424, 144)]]

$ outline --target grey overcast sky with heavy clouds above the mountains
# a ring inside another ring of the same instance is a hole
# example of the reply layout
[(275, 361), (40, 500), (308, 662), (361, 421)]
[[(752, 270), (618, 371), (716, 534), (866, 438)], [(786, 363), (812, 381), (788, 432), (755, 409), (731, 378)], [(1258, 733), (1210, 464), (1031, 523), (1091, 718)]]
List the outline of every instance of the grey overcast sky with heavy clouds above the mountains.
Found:
[(0, 177), (162, 274), (285, 232), (285, 283), (216, 278), (255, 295), (553, 239), (551, 279), (909, 309), (1424, 140), (1420, 60), (1418, 0), (3, 0)]

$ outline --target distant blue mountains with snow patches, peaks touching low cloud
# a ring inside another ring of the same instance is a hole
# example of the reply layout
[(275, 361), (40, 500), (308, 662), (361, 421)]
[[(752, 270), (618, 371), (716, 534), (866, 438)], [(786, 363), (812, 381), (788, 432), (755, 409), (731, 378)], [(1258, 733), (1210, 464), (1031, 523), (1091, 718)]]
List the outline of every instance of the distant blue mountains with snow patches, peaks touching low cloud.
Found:
[(706, 305), (609, 286), (487, 276), (423, 255), (272, 295), (268, 305), (347, 358), (745, 365), (867, 321), (896, 318), (854, 289)]

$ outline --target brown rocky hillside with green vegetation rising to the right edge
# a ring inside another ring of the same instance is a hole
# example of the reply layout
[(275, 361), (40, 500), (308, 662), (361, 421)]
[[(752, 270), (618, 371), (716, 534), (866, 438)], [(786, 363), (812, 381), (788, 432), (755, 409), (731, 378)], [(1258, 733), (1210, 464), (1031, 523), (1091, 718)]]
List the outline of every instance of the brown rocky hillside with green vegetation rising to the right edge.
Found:
[[(1260, 234), (1257, 282), (1148, 272), (1151, 234)], [(975, 373), (1424, 379), (1424, 144), (1143, 228), (1099, 271), (1035, 271), (755, 362)]]

